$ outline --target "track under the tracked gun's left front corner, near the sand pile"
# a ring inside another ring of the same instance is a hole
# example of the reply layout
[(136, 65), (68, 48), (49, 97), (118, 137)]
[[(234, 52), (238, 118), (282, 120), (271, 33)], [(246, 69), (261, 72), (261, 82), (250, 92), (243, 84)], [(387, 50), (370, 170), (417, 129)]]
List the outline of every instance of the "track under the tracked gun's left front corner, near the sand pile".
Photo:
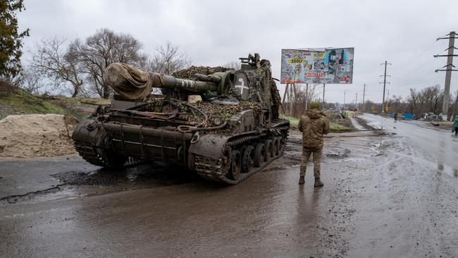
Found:
[[(109, 164), (109, 162), (106, 161), (106, 159), (100, 156), (100, 154), (98, 154), (95, 151), (94, 147), (92, 147), (92, 145), (89, 142), (74, 141), (73, 146), (75, 146), (76, 151), (78, 152), (78, 154), (80, 154), (82, 159), (89, 162), (90, 164), (95, 166), (113, 167), (113, 164)], [(142, 162), (142, 159), (128, 157), (127, 161), (121, 166), (133, 166), (140, 164)]]

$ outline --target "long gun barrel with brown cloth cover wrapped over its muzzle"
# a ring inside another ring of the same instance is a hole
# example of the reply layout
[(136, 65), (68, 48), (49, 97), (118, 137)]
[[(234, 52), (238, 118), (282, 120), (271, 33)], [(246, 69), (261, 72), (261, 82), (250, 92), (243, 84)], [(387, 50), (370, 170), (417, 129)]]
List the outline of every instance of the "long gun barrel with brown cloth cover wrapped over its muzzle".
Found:
[(197, 80), (180, 79), (161, 73), (149, 73), (126, 63), (111, 63), (104, 74), (104, 81), (115, 92), (128, 99), (144, 99), (151, 94), (153, 87), (189, 92), (223, 91), (227, 73), (213, 75), (197, 74)]

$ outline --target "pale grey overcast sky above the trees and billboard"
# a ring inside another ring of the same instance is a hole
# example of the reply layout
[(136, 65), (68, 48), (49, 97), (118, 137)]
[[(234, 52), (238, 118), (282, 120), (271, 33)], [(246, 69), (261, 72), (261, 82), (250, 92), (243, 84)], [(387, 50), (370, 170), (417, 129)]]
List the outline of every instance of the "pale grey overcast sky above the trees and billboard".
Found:
[[(194, 65), (220, 66), (257, 52), (280, 78), (281, 49), (354, 47), (353, 84), (326, 85), (327, 102), (343, 102), (344, 90), (347, 102), (357, 92), (361, 102), (363, 83), (366, 99), (381, 102), (378, 82), (385, 60), (392, 63), (390, 96), (407, 96), (411, 87), (443, 87), (445, 72), (434, 70), (445, 66), (446, 58), (433, 55), (447, 49), (448, 42), (435, 39), (458, 30), (458, 1), (452, 0), (25, 0), (25, 7), (18, 16), (20, 27), (30, 28), (25, 50), (43, 38), (85, 38), (107, 27), (139, 39), (147, 54), (170, 40)], [(29, 58), (25, 53), (23, 62)], [(457, 82), (455, 72), (452, 92)]]

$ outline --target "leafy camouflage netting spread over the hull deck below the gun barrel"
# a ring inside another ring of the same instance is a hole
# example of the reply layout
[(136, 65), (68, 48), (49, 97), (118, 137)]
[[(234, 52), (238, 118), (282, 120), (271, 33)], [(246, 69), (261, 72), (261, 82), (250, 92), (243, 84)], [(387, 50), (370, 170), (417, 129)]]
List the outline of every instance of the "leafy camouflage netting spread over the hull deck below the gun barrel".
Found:
[(235, 113), (247, 109), (252, 109), (257, 118), (262, 111), (262, 106), (257, 102), (240, 102), (237, 105), (221, 105), (211, 102), (190, 104), (175, 99), (151, 99), (149, 104), (143, 106), (141, 111), (155, 113), (173, 113), (173, 111), (178, 111), (178, 113), (185, 113), (185, 120), (193, 122), (196, 125), (209, 127), (212, 126), (211, 118), (218, 117), (223, 121), (229, 121), (230, 117)]

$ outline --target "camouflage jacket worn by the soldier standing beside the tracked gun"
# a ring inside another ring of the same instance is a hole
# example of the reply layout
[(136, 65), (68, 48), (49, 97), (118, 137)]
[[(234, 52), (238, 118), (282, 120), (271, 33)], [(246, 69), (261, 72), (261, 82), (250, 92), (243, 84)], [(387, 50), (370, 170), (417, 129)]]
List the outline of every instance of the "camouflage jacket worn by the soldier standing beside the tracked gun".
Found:
[(309, 148), (323, 147), (323, 135), (329, 133), (326, 115), (318, 109), (310, 109), (299, 120), (297, 126), (302, 132), (302, 145)]

